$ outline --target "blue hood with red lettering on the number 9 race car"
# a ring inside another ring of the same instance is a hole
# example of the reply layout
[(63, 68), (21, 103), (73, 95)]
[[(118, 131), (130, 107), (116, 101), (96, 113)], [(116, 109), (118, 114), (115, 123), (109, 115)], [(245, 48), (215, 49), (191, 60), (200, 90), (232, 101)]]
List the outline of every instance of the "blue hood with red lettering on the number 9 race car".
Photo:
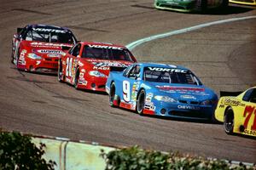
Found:
[(169, 83), (160, 84), (159, 82), (153, 82), (151, 84), (159, 91), (160, 94), (177, 100), (203, 101), (207, 99), (218, 99), (212, 89), (206, 88), (205, 86), (184, 84), (170, 85)]

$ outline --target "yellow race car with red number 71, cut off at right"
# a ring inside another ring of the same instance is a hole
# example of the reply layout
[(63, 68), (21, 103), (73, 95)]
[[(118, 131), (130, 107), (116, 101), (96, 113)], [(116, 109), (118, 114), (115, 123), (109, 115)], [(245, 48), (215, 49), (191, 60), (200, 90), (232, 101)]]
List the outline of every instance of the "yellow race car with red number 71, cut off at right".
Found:
[(224, 131), (228, 134), (256, 136), (256, 87), (237, 96), (221, 97), (215, 118), (224, 122)]

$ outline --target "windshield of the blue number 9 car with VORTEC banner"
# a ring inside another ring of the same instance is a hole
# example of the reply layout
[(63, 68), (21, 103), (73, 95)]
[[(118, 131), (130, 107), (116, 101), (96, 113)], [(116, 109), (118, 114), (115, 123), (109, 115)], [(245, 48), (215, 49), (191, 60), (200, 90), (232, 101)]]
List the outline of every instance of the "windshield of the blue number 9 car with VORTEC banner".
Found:
[(177, 68), (145, 67), (143, 80), (146, 82), (201, 85), (200, 80), (191, 71)]

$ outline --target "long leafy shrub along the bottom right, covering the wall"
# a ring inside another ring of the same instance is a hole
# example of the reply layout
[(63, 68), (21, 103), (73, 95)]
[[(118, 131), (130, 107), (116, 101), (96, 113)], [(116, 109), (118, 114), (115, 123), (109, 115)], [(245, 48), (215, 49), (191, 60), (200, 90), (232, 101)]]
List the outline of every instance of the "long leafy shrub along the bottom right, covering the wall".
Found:
[(209, 160), (203, 157), (183, 156), (177, 152), (162, 153), (155, 150), (143, 150), (138, 146), (113, 150), (105, 153), (102, 150), (101, 156), (105, 159), (106, 170), (219, 170), (219, 169), (253, 169), (244, 165), (231, 165), (226, 161)]

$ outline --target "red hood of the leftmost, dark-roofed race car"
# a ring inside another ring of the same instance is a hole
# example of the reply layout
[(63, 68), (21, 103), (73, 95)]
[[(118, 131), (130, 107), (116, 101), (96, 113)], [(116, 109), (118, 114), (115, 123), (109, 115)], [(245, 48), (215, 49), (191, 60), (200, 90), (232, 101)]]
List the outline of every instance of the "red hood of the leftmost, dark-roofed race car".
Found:
[(67, 43), (52, 43), (52, 42), (24, 42), (26, 47), (30, 49), (30, 53), (38, 54), (41, 57), (60, 58), (65, 53), (62, 47), (72, 47)]

